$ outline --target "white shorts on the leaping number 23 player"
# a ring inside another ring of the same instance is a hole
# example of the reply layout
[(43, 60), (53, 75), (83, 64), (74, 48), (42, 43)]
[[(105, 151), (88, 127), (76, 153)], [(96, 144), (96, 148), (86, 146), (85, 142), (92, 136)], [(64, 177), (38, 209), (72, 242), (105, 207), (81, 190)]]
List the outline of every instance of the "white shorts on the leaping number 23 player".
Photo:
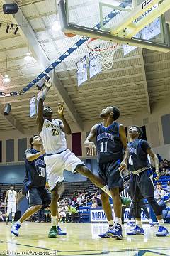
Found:
[(55, 188), (58, 182), (63, 180), (64, 170), (74, 173), (79, 164), (85, 165), (84, 162), (69, 149), (60, 154), (45, 156), (45, 164), (50, 191)]

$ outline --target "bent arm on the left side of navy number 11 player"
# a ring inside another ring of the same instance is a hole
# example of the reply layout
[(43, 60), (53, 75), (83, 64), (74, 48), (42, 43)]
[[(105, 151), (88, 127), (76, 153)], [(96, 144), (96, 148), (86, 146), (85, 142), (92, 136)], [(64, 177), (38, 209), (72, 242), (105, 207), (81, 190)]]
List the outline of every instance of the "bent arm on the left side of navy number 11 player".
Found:
[(91, 131), (84, 142), (84, 146), (88, 148), (87, 154), (89, 154), (89, 156), (96, 155), (96, 146), (94, 142), (91, 142), (91, 141), (92, 139), (94, 139), (94, 137), (96, 137), (97, 127), (98, 127), (98, 124), (95, 124), (94, 127), (91, 128)]

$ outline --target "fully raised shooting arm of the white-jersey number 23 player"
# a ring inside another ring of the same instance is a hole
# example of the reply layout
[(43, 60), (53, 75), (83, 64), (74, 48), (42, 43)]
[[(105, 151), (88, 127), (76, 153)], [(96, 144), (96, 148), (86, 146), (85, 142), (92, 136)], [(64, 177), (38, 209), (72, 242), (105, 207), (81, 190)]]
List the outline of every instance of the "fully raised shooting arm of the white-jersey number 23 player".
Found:
[(38, 132), (42, 131), (42, 127), (44, 124), (44, 117), (43, 117), (44, 100), (51, 86), (52, 84), (50, 82), (45, 83), (45, 90), (42, 92), (42, 95), (38, 100), (38, 114), (37, 114)]

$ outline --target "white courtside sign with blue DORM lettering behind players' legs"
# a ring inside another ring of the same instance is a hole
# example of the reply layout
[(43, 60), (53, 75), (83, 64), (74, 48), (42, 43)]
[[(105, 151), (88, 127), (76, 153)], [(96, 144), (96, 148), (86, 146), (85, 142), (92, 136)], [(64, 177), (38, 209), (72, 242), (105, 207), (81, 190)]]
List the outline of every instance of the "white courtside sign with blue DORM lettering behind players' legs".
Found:
[[(149, 212), (149, 207), (147, 207), (147, 210)], [(125, 209), (125, 214), (124, 214), (124, 221), (128, 222), (128, 215), (130, 212), (130, 208), (126, 208)], [(112, 215), (113, 215), (113, 219), (114, 219), (114, 210), (112, 210)], [(147, 220), (146, 215), (144, 213), (144, 210), (142, 209), (141, 211), (141, 220), (143, 223), (147, 223), (149, 222), (149, 220)], [(101, 209), (94, 209), (90, 211), (90, 221), (91, 223), (107, 223), (107, 219), (106, 219), (106, 215), (104, 213), (104, 211)]]

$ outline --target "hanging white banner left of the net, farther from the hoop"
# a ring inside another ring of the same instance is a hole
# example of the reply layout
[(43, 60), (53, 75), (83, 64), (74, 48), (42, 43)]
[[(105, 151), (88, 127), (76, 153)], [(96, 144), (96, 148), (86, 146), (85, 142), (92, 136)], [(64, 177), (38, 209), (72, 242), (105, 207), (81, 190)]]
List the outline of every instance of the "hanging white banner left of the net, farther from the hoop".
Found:
[(83, 82), (87, 81), (87, 60), (86, 56), (81, 58), (81, 60), (77, 63), (77, 80), (78, 86), (81, 85)]

